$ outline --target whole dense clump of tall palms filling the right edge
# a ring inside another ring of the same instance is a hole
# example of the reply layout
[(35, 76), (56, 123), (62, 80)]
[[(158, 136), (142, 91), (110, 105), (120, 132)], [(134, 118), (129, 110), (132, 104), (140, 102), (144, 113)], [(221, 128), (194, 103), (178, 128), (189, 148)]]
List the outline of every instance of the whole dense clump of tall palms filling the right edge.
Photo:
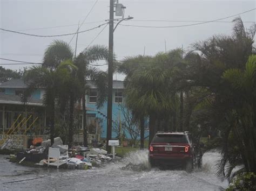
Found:
[[(221, 130), (223, 151), (218, 175), (228, 179), (245, 171), (255, 172), (251, 150), (255, 150), (255, 58), (249, 58), (254, 52), (255, 28), (246, 31), (240, 18), (234, 22), (232, 36), (213, 36), (193, 45), (200, 53), (190, 57), (186, 72), (190, 88), (203, 90), (201, 101), (193, 106), (190, 125), (201, 122)], [(244, 168), (231, 174), (239, 165)]]

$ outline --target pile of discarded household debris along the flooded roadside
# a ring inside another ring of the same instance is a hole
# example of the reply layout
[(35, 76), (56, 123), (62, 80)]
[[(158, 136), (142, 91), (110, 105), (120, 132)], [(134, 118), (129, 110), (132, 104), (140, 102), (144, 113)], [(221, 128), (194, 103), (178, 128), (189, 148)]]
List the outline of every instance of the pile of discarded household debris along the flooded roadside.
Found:
[[(38, 145), (38, 142), (37, 142)], [(57, 166), (65, 164), (68, 169), (89, 169), (101, 166), (112, 160), (112, 154), (102, 148), (63, 145), (62, 139), (56, 137), (51, 146), (51, 140), (45, 140), (40, 145), (31, 145), (29, 149), (17, 153), (17, 159), (36, 162), (36, 165)]]

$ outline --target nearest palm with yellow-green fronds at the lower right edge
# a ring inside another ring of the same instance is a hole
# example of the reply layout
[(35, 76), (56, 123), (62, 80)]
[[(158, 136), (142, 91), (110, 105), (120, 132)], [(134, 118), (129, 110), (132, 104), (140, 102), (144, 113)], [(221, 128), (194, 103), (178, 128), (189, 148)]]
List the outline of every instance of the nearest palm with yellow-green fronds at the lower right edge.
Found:
[[(224, 72), (223, 78), (230, 86), (230, 100), (233, 105), (229, 108), (228, 114), (232, 119), (226, 128), (225, 142), (234, 144), (237, 149), (223, 147), (223, 158), (219, 163), (219, 174), (232, 178), (241, 172), (256, 173), (256, 55), (249, 57), (245, 69), (228, 69)], [(225, 167), (227, 166), (225, 174)], [(244, 165), (239, 171), (231, 175), (232, 170)]]

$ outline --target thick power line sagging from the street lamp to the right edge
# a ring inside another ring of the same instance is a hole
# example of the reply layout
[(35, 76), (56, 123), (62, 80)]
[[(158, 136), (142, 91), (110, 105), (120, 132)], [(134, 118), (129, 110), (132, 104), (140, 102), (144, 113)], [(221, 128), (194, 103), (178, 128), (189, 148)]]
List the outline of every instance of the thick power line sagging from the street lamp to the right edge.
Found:
[(184, 27), (184, 26), (194, 26), (194, 25), (201, 25), (201, 24), (205, 24), (205, 23), (217, 22), (219, 20), (224, 20), (224, 19), (227, 19), (227, 18), (239, 16), (239, 15), (242, 15), (244, 13), (254, 11), (255, 9), (256, 8), (248, 10), (248, 11), (244, 11), (244, 12), (241, 12), (241, 13), (238, 13), (238, 14), (235, 14), (235, 15), (227, 16), (227, 17), (224, 17), (224, 18), (219, 18), (219, 19), (215, 19), (215, 20), (208, 20), (206, 22), (193, 23), (193, 24), (188, 24), (188, 25), (176, 25), (176, 26), (142, 26), (142, 25), (124, 25), (124, 24), (120, 24), (120, 25), (122, 25), (122, 26), (133, 26), (133, 27), (143, 27), (143, 28), (176, 28), (176, 27)]

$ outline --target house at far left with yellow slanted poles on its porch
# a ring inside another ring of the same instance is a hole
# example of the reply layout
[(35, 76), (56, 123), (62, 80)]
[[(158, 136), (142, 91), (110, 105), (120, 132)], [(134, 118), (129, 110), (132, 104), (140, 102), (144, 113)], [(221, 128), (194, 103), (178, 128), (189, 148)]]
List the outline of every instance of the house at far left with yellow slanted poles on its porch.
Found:
[(0, 84), (0, 134), (8, 132), (16, 122), (17, 130), (27, 132), (28, 129), (43, 134), (46, 126), (45, 107), (42, 97), (43, 89), (38, 89), (28, 100), (21, 102), (21, 95), (26, 88), (19, 79)]

